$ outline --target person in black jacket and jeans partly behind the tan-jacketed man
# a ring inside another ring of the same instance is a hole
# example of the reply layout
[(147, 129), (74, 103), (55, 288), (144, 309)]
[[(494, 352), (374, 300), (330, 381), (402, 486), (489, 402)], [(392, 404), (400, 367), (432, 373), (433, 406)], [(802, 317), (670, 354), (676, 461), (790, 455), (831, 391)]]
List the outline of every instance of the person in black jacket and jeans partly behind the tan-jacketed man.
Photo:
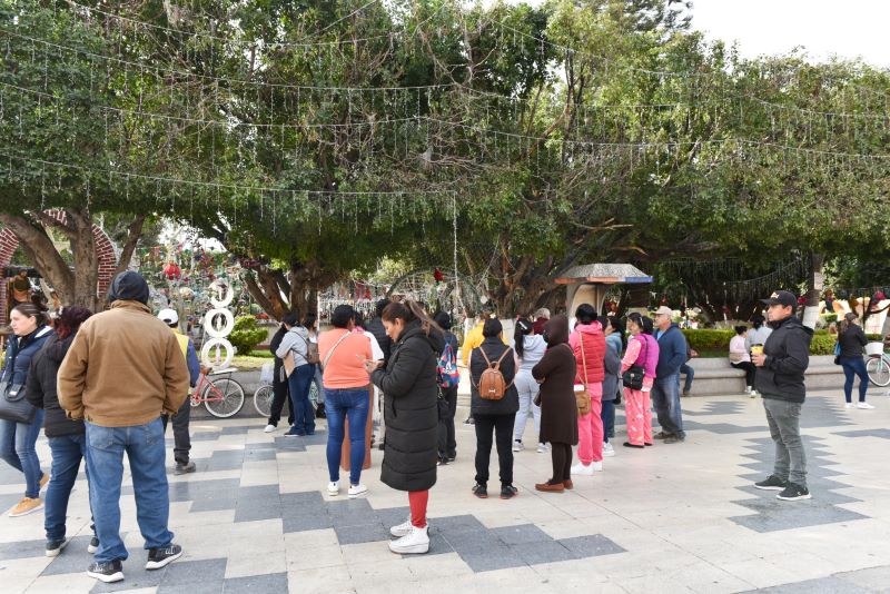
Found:
[[(56, 320), (56, 334), (49, 335), (43, 348), (33, 356), (28, 373), (27, 398), (33, 406), (46, 412), (43, 432), (52, 452), (51, 477), (43, 512), (48, 557), (57, 556), (68, 544), (65, 526), (68, 498), (75, 487), (80, 463), (87, 455), (83, 420), (71, 420), (59, 406), (56, 376), (80, 325), (91, 315), (92, 311), (86, 307), (71, 306), (62, 309)], [(88, 548), (95, 553), (98, 546), (99, 539), (93, 535)]]

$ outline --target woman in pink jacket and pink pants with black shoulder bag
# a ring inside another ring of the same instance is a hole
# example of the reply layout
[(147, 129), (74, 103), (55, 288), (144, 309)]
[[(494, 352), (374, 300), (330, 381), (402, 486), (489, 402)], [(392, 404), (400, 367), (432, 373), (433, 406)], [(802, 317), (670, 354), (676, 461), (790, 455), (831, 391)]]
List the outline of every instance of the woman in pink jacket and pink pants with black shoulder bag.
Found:
[(655, 382), (655, 367), (659, 364), (659, 341), (652, 336), (652, 319), (633, 313), (627, 316), (631, 339), (627, 352), (621, 359), (623, 374), (633, 365), (645, 370), (643, 389), (624, 388), (624, 414), (627, 417), (627, 440), (625, 447), (652, 445), (652, 384)]

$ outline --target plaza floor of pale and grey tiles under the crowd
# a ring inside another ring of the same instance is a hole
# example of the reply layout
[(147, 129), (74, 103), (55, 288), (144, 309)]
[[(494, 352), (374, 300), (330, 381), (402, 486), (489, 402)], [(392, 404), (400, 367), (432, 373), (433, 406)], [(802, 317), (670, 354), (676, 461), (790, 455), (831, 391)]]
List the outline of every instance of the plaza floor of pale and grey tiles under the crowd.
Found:
[[(382, 452), (363, 475), (366, 497), (332, 498), (326, 434), (267, 435), (258, 418), (195, 420), (198, 473), (170, 475), (181, 560), (142, 568), (127, 476), (126, 580), (87, 577), (81, 475), (69, 507), (73, 541), (59, 557), (43, 555), (42, 513), (0, 517), (0, 592), (890, 592), (890, 398), (873, 390), (870, 399), (877, 410), (844, 409), (835, 390), (809, 396), (802, 424), (813, 498), (798, 503), (751, 486), (769, 474), (772, 445), (761, 400), (744, 396), (684, 398), (686, 442), (645, 451), (620, 446), (620, 412), (617, 455), (565, 494), (535, 492), (550, 455), (521, 452), (512, 501), (471, 494), (475, 435), (458, 425), (457, 461), (439, 468), (431, 493), (432, 551), (414, 557), (386, 546), (407, 497), (380, 484)], [(534, 444), (531, 420), (525, 439)], [(38, 448), (49, 468), (42, 437)], [(496, 466), (493, 454), (494, 477)], [(0, 507), (18, 501), (22, 483), (0, 464)]]

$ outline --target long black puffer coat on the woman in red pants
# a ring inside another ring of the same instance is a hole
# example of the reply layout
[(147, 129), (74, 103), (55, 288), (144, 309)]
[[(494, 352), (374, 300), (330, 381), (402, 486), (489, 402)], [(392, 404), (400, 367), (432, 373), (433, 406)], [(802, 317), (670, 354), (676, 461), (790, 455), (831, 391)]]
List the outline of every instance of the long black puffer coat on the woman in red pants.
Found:
[(415, 320), (405, 326), (384, 368), (370, 375), (384, 398), (384, 457), (380, 481), (398, 491), (436, 484), (438, 385), (442, 333), (427, 336)]

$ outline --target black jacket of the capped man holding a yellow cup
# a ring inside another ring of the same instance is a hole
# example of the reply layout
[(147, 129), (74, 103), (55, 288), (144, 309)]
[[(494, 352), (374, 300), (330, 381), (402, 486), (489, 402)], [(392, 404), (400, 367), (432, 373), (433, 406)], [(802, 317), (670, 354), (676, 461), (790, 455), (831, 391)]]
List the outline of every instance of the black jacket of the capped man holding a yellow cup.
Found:
[(794, 316), (770, 326), (773, 331), (763, 345), (767, 360), (754, 378), (756, 390), (764, 398), (802, 403), (807, 397), (803, 374), (810, 366), (813, 330)]

